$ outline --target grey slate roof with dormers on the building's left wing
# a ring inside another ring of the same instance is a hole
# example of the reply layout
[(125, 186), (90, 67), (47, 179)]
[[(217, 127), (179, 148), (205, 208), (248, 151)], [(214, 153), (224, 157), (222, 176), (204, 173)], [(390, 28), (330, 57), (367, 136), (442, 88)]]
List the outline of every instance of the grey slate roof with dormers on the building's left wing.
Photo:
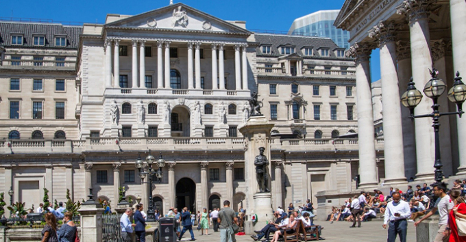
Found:
[[(23, 45), (12, 45), (12, 33), (23, 34)], [(0, 21), (0, 46), (38, 49), (77, 49), (82, 26), (63, 26), (57, 23), (16, 23)], [(34, 46), (34, 35), (45, 35), (45, 46)], [(55, 46), (55, 36), (66, 36), (66, 47)]]

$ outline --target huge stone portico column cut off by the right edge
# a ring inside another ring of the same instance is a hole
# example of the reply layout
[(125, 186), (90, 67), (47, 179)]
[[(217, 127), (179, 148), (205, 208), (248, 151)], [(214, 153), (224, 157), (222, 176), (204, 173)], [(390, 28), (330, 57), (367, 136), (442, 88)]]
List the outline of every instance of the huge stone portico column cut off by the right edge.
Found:
[[(463, 0), (450, 0), (450, 18), (452, 23), (452, 49), (454, 72), (459, 71), (463, 75), (463, 82), (466, 75), (466, 2)], [(446, 92), (446, 91), (445, 91)], [(456, 117), (458, 127), (458, 146), (464, 147), (466, 144), (466, 118)], [(457, 175), (466, 174), (466, 150), (459, 149), (459, 167)]]

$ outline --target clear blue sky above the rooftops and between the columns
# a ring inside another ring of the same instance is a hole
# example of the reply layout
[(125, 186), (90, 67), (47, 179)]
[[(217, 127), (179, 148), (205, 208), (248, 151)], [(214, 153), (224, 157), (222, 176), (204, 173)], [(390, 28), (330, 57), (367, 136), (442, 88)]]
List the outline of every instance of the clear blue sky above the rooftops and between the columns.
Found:
[[(288, 31), (295, 18), (319, 10), (339, 10), (344, 0), (173, 0), (224, 20), (246, 21), (247, 29)], [(169, 0), (156, 1), (3, 1), (0, 17), (42, 18), (53, 21), (103, 23), (106, 14), (135, 15), (169, 5)], [(293, 4), (291, 4), (293, 3)], [(378, 51), (372, 56), (372, 80), (380, 79)]]

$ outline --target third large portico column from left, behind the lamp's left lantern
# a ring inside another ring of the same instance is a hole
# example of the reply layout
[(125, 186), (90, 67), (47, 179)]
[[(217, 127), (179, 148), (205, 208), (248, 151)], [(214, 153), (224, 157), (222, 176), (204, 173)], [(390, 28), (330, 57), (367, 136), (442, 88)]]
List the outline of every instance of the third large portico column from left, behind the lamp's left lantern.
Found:
[[(418, 90), (431, 79), (429, 68), (432, 68), (430, 55), (429, 15), (433, 0), (410, 1), (400, 5), (397, 14), (406, 14), (409, 18), (409, 33), (411, 43), (411, 62), (413, 63), (413, 80)], [(426, 96), (415, 108), (415, 114), (432, 113), (432, 100)], [(415, 119), (417, 179), (434, 178), (434, 129), (430, 118)]]

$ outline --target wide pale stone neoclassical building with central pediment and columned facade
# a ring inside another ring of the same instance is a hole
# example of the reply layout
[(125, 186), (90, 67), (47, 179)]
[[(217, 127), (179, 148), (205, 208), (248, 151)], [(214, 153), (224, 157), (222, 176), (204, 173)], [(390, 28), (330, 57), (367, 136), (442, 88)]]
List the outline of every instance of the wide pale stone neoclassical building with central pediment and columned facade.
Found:
[[(247, 209), (238, 131), (252, 111), (275, 124), (268, 141), (273, 207), (319, 191), (350, 192), (358, 174), (360, 110), (354, 60), (329, 38), (253, 33), (176, 3), (105, 24), (0, 22), (0, 191), (35, 207), (43, 188), (64, 201), (119, 187), (158, 209)], [(371, 124), (372, 126), (372, 124)], [(383, 139), (377, 178), (384, 178)], [(134, 163), (161, 152), (153, 187)], [(375, 157), (375, 154), (374, 154)], [(374, 158), (375, 159), (375, 158)]]

